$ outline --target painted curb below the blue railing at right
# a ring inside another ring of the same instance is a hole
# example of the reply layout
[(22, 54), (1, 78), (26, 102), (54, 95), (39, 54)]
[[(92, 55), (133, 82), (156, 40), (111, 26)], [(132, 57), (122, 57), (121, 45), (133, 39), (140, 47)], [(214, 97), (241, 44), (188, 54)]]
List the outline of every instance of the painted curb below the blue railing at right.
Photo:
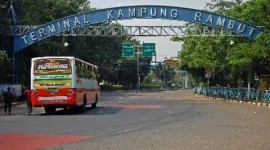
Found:
[(231, 103), (252, 104), (252, 105), (261, 106), (261, 107), (268, 107), (270, 109), (270, 103), (266, 103), (266, 102), (233, 100), (233, 99), (225, 99), (225, 98), (210, 97), (210, 96), (208, 97), (208, 96), (201, 95), (201, 94), (194, 94), (194, 95), (197, 97), (208, 98), (208, 99), (213, 99), (213, 100), (220, 100), (220, 101), (227, 101), (227, 102), (231, 102)]

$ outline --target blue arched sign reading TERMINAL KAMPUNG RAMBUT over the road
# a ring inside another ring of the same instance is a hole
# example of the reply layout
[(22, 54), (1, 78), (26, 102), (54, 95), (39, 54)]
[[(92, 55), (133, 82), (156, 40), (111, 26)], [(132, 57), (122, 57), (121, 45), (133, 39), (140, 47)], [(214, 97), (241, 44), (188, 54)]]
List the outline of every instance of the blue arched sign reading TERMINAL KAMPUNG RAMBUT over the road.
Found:
[(39, 26), (15, 37), (14, 51), (19, 51), (33, 43), (66, 30), (91, 24), (128, 19), (167, 19), (197, 22), (207, 26), (222, 28), (255, 39), (263, 30), (255, 25), (203, 10), (158, 5), (123, 6), (100, 9), (61, 18)]

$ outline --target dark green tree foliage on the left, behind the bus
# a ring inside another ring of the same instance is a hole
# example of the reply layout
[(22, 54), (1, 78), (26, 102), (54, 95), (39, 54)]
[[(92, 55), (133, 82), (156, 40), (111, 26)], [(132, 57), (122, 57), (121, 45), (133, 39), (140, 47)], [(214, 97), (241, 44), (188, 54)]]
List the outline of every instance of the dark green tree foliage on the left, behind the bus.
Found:
[[(0, 0), (3, 13), (0, 14), (0, 24), (7, 27), (12, 24), (11, 17), (4, 19), (9, 2)], [(15, 1), (14, 8), (20, 25), (39, 25), (57, 20), (69, 15), (92, 11), (88, 0), (23, 0)], [(3, 21), (2, 21), (3, 20)], [(98, 25), (121, 26), (120, 24), (101, 23)], [(5, 31), (1, 28), (0, 31)], [(1, 33), (1, 32), (0, 32)], [(6, 33), (3, 33), (6, 34)], [(12, 56), (12, 37), (5, 41), (5, 49)], [(65, 47), (67, 42), (69, 46)], [(50, 37), (37, 42), (20, 51), (20, 78), (24, 85), (30, 83), (31, 58), (39, 56), (74, 56), (99, 66), (101, 80), (109, 83), (136, 84), (136, 61), (121, 58), (121, 43), (140, 41), (131, 37)], [(1, 43), (2, 44), (2, 43)], [(0, 44), (0, 45), (1, 45)], [(141, 80), (150, 70), (151, 58), (141, 58)], [(135, 72), (135, 73), (134, 73)], [(12, 73), (12, 72), (10, 72)]]

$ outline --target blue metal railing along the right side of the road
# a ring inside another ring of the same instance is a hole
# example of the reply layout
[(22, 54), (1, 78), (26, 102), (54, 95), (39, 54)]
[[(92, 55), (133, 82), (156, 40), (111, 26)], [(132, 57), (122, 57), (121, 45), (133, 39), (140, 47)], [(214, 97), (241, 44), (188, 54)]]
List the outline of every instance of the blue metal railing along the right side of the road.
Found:
[(251, 88), (248, 94), (247, 88), (196, 87), (195, 93), (217, 98), (270, 102), (270, 91), (254, 88)]

